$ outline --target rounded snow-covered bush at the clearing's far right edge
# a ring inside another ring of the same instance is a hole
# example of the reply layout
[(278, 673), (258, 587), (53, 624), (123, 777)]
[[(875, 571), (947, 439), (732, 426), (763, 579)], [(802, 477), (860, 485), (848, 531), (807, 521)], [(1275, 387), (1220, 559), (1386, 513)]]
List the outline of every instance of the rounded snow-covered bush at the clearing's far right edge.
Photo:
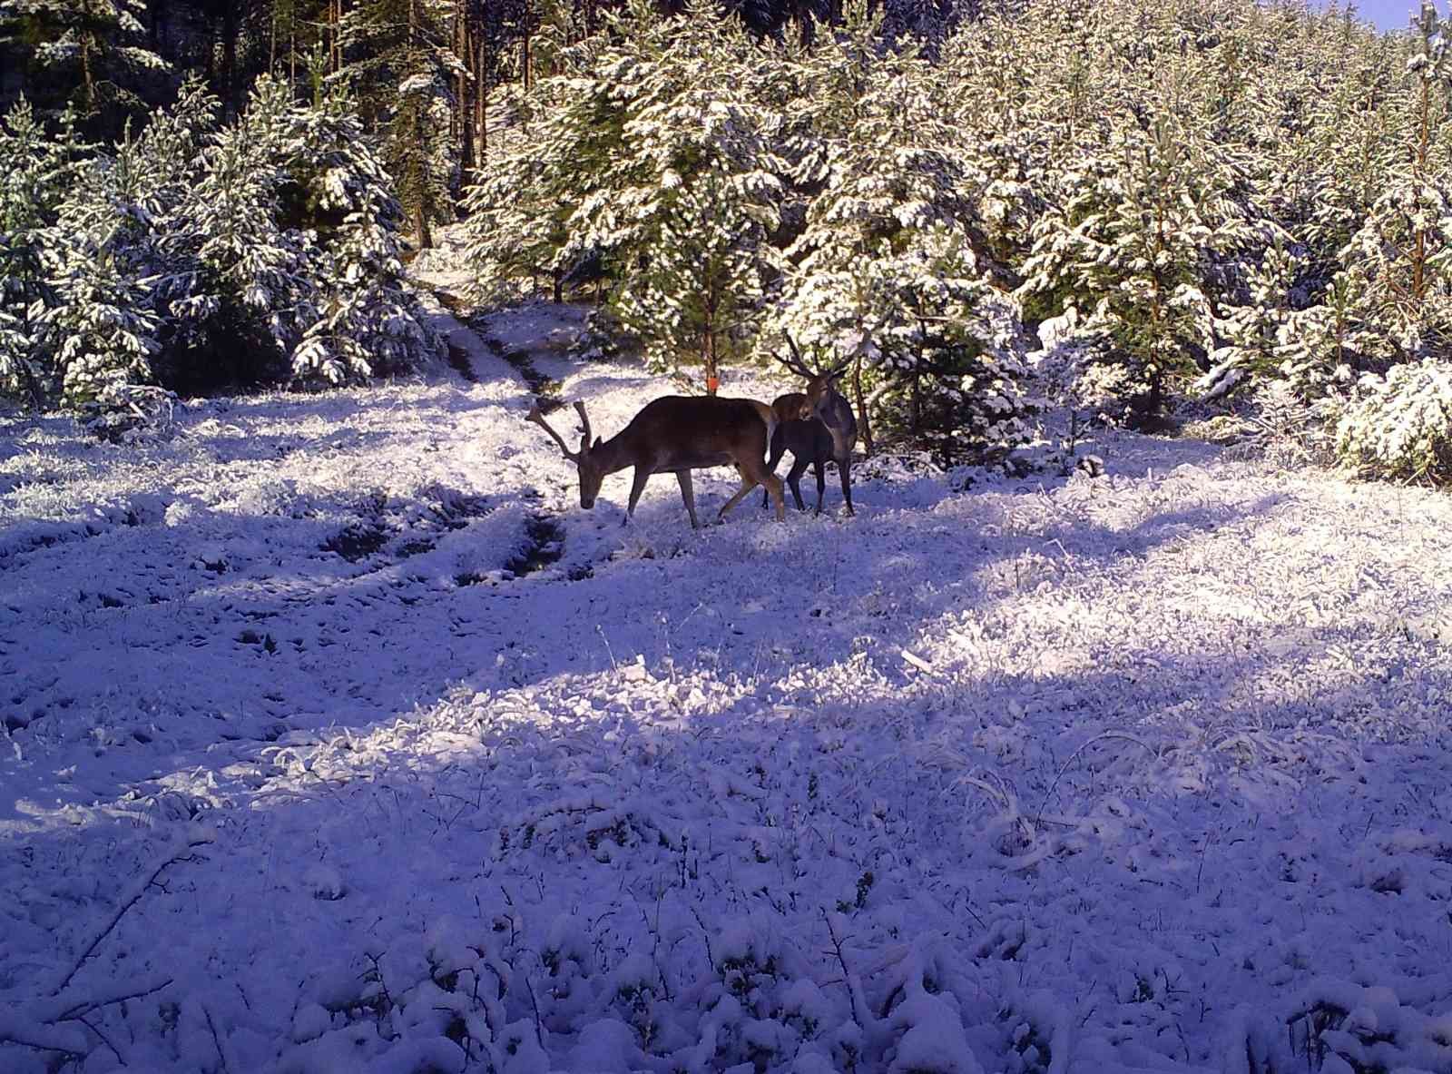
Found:
[(1452, 363), (1427, 358), (1362, 376), (1340, 407), (1336, 452), (1368, 477), (1452, 481)]

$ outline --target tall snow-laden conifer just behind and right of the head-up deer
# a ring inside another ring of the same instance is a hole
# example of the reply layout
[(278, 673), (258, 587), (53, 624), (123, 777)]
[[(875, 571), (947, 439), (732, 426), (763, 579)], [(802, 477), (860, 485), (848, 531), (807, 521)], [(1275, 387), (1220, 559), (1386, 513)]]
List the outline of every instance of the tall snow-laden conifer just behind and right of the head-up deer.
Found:
[(860, 358), (865, 429), (948, 459), (1002, 451), (1024, 432), (1024, 340), (986, 269), (987, 177), (951, 131), (939, 70), (912, 48), (880, 54), (880, 17), (849, 9), (803, 58), (809, 119), (788, 124), (813, 131), (796, 179), (815, 193), (767, 340)]

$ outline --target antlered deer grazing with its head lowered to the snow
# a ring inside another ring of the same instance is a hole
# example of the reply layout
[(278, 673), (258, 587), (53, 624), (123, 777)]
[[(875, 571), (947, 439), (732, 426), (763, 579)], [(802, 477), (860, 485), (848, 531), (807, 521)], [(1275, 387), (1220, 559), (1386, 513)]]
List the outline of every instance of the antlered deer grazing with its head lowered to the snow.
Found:
[(777, 423), (771, 407), (765, 403), (719, 395), (664, 395), (646, 403), (640, 413), (630, 419), (630, 424), (604, 443), (598, 437), (594, 443), (590, 442), (585, 404), (576, 403), (575, 410), (579, 411), (579, 421), (584, 426), (579, 451), (569, 449), (565, 439), (544, 421), (539, 407), (534, 407), (526, 420), (555, 437), (565, 458), (579, 469), (579, 506), (585, 510), (595, 506), (600, 483), (607, 474), (635, 467), (630, 506), (626, 509), (629, 522), (650, 475), (674, 472), (675, 480), (681, 483), (681, 498), (685, 500), (691, 526), (700, 529), (691, 471), (700, 467), (735, 464), (736, 472), (741, 474), (741, 488), (722, 506), (717, 517), (725, 517), (726, 512), (756, 485), (764, 485), (767, 494), (777, 501), (777, 519), (787, 516), (781, 481), (765, 464), (767, 445)]

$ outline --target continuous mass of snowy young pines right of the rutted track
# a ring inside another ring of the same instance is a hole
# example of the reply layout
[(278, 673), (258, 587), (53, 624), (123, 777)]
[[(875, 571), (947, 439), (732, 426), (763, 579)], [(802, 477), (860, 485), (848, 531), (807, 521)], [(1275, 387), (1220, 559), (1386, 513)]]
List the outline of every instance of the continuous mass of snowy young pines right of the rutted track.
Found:
[(860, 358), (881, 439), (947, 459), (1048, 391), (1153, 427), (1289, 385), (1308, 449), (1452, 472), (1433, 12), (1047, 0), (900, 44), (851, 6), (810, 48), (636, 10), (563, 51), (466, 201), (484, 294), (600, 280), (656, 369)]

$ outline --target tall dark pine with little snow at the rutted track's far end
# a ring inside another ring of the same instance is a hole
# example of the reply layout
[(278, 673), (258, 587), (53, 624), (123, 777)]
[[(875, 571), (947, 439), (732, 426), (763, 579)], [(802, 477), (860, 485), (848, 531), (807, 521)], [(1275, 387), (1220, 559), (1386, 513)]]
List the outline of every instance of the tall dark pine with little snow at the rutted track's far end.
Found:
[(340, 23), (347, 62), (338, 77), (364, 124), (382, 135), (420, 249), (433, 246), (431, 224), (453, 218), (459, 177), (449, 87), (463, 64), (453, 52), (450, 9), (444, 0), (364, 0)]

